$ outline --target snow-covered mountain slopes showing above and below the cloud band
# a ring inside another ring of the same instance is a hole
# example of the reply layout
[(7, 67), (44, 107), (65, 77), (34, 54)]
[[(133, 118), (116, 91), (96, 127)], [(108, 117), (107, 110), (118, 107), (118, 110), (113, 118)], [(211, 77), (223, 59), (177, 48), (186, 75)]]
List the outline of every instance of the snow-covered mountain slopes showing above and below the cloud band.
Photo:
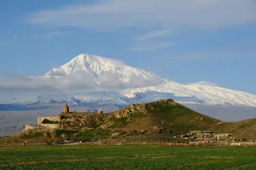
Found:
[[(107, 81), (115, 81), (111, 79), (111, 75), (117, 75), (123, 84), (145, 80), (144, 84), (139, 84), (137, 88), (127, 88), (119, 92), (119, 95), (102, 92), (97, 96), (86, 97), (83, 95), (74, 95), (73, 98), (79, 98), (85, 102), (106, 101), (117, 104), (130, 104), (136, 102), (153, 101), (161, 98), (174, 98), (181, 103), (198, 103), (205, 105), (246, 105), (256, 107), (256, 95), (237, 90), (229, 90), (218, 86), (209, 86), (205, 84), (179, 84), (162, 80), (154, 73), (126, 66), (122, 61), (116, 61), (101, 56), (93, 56), (90, 54), (80, 54), (73, 58), (70, 62), (55, 68), (44, 74), (45, 78), (63, 77), (76, 73), (89, 73), (93, 75), (93, 82), (102, 84), (99, 77), (109, 76)], [(113, 77), (115, 79), (116, 77)], [(104, 82), (106, 83), (106, 82)], [(153, 86), (152, 86), (153, 84)], [(62, 99), (63, 101), (63, 99)], [(70, 101), (70, 100), (69, 100)]]

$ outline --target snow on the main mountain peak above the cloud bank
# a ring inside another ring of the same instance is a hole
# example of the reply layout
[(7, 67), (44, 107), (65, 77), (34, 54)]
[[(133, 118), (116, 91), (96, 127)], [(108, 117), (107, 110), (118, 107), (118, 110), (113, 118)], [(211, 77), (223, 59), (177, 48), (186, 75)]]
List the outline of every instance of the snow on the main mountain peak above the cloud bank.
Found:
[(134, 77), (143, 78), (145, 80), (158, 79), (154, 73), (144, 71), (143, 69), (128, 67), (124, 65), (122, 61), (94, 56), (91, 54), (80, 54), (65, 65), (52, 69), (48, 73), (44, 74), (44, 77), (59, 77), (79, 71), (91, 73), (95, 78), (98, 78), (100, 75), (104, 75), (104, 73), (117, 73), (122, 82), (130, 82)]

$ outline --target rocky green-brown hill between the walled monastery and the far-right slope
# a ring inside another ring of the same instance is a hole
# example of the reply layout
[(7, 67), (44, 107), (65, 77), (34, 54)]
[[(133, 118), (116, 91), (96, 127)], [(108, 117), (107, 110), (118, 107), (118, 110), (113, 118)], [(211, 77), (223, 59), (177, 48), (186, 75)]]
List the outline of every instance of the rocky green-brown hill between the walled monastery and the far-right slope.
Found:
[(70, 129), (101, 128), (124, 131), (152, 131), (169, 129), (175, 133), (190, 130), (210, 130), (221, 122), (194, 112), (172, 99), (134, 104), (109, 114), (95, 114), (81, 118), (67, 118), (61, 125)]

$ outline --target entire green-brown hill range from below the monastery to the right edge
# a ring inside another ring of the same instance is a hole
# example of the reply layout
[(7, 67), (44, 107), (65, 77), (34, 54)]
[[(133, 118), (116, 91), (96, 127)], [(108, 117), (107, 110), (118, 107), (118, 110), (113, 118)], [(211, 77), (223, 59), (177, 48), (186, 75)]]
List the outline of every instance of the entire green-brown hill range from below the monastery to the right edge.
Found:
[[(108, 114), (71, 116), (58, 123), (63, 127), (62, 130), (35, 129), (21, 137), (71, 137), (92, 140), (136, 136), (156, 138), (154, 141), (168, 141), (168, 137), (184, 135), (189, 131), (212, 131), (232, 133), (236, 139), (256, 139), (256, 119), (222, 122), (188, 109), (172, 99), (129, 105)], [(134, 141), (135, 138), (129, 140)]]

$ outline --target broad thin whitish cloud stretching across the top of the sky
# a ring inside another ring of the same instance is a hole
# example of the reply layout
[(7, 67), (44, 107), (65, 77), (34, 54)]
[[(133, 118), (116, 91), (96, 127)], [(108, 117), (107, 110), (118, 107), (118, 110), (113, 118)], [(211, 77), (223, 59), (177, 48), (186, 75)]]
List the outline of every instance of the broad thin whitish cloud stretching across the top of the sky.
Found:
[(195, 27), (215, 29), (256, 20), (255, 0), (109, 0), (42, 10), (27, 18), (49, 27)]

